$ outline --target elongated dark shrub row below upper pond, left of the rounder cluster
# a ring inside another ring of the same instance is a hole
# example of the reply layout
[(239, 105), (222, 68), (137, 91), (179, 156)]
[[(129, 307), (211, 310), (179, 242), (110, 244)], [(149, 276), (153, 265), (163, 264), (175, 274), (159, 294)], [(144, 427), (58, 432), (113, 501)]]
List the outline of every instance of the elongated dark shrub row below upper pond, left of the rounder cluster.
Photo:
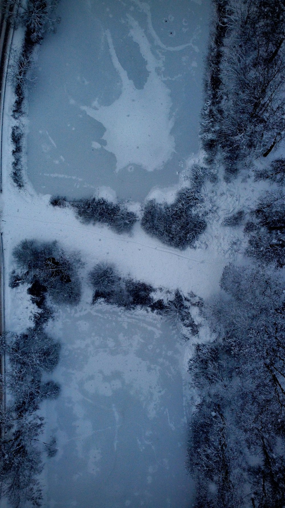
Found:
[(52, 197), (50, 204), (64, 207), (69, 204), (83, 224), (108, 224), (116, 233), (129, 233), (138, 220), (135, 213), (124, 204), (110, 203), (104, 198), (82, 198), (67, 200), (60, 196)]

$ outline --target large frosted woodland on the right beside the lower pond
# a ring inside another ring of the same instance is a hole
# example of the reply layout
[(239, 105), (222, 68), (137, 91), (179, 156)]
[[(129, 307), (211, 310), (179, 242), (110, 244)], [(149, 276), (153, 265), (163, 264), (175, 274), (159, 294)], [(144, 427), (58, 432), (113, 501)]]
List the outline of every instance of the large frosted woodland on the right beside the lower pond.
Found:
[(188, 468), (195, 508), (285, 503), (284, 285), (279, 273), (229, 265), (205, 315), (215, 339), (189, 362), (199, 403)]

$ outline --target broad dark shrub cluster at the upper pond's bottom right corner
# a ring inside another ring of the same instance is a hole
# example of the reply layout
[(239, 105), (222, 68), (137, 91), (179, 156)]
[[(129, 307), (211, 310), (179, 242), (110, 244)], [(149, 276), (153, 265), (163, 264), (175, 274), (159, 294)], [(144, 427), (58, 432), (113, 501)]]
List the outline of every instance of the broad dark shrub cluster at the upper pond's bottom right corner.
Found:
[(160, 241), (185, 249), (193, 246), (206, 229), (205, 220), (197, 213), (199, 197), (192, 189), (180, 190), (170, 205), (149, 201), (141, 219), (141, 227)]

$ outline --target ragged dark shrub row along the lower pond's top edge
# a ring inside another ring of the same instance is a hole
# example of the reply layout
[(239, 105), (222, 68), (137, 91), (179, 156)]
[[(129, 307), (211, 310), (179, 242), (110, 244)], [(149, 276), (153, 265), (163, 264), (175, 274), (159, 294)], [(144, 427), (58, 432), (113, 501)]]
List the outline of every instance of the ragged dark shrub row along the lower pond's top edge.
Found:
[[(168, 316), (174, 324), (181, 323), (192, 335), (198, 333), (198, 326), (189, 310), (191, 305), (197, 305), (193, 294), (189, 294), (187, 298), (176, 290), (173, 298), (166, 301), (162, 298), (155, 299), (155, 289), (150, 284), (121, 277), (114, 265), (104, 262), (94, 266), (89, 274), (89, 281), (94, 290), (93, 304), (104, 300), (126, 309), (145, 308)], [(202, 305), (202, 301), (198, 301)]]

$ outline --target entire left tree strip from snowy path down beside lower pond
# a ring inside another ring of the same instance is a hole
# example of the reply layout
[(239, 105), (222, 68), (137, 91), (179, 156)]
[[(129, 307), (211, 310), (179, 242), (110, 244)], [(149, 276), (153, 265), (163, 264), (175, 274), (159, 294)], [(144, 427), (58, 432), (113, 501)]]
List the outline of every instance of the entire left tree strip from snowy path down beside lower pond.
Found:
[[(6, 355), (5, 387), (9, 400), (0, 408), (0, 423), (5, 434), (0, 437), (1, 495), (11, 506), (41, 506), (42, 490), (39, 475), (43, 470), (42, 452), (53, 457), (56, 440), (43, 441), (44, 419), (39, 416), (40, 404), (59, 395), (60, 387), (53, 380), (43, 381), (59, 361), (60, 344), (45, 330), (53, 317), (54, 303), (77, 304), (80, 283), (77, 269), (81, 262), (76, 255), (67, 256), (56, 242), (24, 240), (14, 249), (17, 270), (10, 285), (28, 283), (27, 293), (37, 305), (33, 328), (24, 333), (6, 333), (0, 337), (0, 354)], [(1, 381), (3, 383), (3, 380)]]

